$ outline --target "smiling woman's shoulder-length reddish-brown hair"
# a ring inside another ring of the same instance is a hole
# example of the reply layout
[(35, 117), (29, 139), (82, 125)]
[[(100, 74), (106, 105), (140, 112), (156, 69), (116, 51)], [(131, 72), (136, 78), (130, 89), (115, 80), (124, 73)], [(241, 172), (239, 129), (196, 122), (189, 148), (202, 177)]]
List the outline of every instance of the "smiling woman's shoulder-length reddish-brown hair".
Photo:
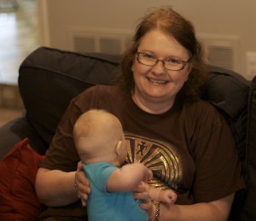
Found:
[(201, 95), (201, 87), (206, 79), (203, 50), (201, 44), (195, 38), (194, 26), (171, 7), (154, 8), (138, 23), (131, 48), (125, 52), (121, 61), (120, 86), (125, 93), (131, 94), (131, 91), (134, 90), (134, 79), (131, 71), (132, 63), (141, 39), (153, 29), (159, 29), (166, 35), (175, 38), (179, 44), (189, 51), (191, 55), (189, 62), (192, 63), (192, 69), (189, 73), (189, 79), (177, 96), (182, 100), (194, 101)]

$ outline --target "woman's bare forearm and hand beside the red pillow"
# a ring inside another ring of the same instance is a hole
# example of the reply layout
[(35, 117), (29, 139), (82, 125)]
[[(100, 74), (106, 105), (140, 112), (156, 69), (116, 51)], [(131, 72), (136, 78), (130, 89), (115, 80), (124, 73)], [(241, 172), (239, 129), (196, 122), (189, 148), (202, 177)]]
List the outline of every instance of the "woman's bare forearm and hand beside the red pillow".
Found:
[(81, 161), (77, 172), (39, 168), (35, 189), (38, 200), (46, 206), (67, 206), (79, 199), (85, 206), (90, 194), (89, 181), (84, 175)]

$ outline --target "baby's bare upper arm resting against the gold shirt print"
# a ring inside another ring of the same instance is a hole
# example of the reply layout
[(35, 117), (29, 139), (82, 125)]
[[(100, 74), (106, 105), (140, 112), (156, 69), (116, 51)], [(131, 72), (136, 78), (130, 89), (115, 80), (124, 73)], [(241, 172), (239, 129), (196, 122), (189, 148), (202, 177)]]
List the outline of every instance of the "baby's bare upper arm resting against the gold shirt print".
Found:
[(107, 190), (110, 192), (131, 191), (142, 182), (148, 182), (152, 172), (141, 163), (133, 163), (114, 170), (108, 177)]

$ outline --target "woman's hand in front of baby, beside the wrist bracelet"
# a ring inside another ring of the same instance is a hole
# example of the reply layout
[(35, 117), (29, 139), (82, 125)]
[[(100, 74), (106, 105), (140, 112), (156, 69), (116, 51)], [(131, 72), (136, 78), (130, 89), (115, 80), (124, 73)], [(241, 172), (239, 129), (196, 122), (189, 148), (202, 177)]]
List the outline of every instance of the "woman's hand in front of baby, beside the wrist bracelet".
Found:
[(144, 185), (143, 182), (141, 182), (136, 189), (133, 191), (133, 197), (134, 199), (139, 199), (142, 201), (140, 204), (141, 208), (148, 212), (149, 220), (153, 220), (153, 211), (154, 206), (152, 205), (151, 199), (148, 195), (148, 189), (147, 185)]

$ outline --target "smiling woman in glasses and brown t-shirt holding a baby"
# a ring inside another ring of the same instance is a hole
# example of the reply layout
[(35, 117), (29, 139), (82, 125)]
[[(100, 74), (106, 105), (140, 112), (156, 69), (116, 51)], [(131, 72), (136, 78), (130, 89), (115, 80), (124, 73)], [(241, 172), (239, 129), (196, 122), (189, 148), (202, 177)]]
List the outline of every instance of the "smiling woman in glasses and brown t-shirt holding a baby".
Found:
[(101, 108), (123, 125), (127, 162), (142, 162), (154, 173), (152, 185), (177, 193), (175, 205), (143, 204), (149, 215), (160, 221), (227, 219), (244, 183), (229, 126), (199, 98), (206, 70), (194, 27), (171, 8), (154, 9), (137, 26), (121, 67), (118, 86), (90, 88), (71, 102), (38, 170), (39, 200), (72, 204), (68, 215), (86, 216), (79, 197), (85, 205), (90, 187), (77, 169), (73, 125), (81, 113)]

